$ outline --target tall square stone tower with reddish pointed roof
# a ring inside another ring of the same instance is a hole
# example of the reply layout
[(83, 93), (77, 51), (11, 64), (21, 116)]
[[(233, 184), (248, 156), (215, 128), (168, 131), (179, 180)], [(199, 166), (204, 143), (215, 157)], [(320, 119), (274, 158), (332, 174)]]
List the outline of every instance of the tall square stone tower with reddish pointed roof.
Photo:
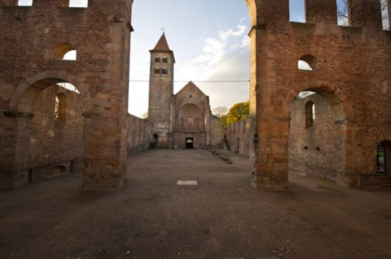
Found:
[(150, 50), (149, 120), (152, 124), (152, 141), (159, 148), (169, 148), (172, 132), (172, 104), (174, 95), (174, 52), (166, 36), (162, 35)]

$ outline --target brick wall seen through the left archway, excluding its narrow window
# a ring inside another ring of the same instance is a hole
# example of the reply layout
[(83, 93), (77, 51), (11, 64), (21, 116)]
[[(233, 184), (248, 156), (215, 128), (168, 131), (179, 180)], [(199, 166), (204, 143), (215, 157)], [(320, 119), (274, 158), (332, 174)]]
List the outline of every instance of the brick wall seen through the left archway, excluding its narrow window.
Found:
[[(54, 119), (57, 94), (66, 98), (65, 122)], [(31, 120), (30, 181), (80, 170), (83, 164), (84, 104), (80, 94), (49, 86), (34, 102)]]

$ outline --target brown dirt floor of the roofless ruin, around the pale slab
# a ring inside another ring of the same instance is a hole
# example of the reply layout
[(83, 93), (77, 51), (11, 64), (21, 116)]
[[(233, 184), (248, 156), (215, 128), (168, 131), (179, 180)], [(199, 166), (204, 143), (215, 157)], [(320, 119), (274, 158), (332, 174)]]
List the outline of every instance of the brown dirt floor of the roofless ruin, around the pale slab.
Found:
[(391, 258), (390, 189), (292, 172), (289, 191), (258, 191), (248, 159), (224, 155), (234, 163), (205, 150), (134, 155), (116, 193), (79, 193), (80, 173), (0, 193), (0, 258)]

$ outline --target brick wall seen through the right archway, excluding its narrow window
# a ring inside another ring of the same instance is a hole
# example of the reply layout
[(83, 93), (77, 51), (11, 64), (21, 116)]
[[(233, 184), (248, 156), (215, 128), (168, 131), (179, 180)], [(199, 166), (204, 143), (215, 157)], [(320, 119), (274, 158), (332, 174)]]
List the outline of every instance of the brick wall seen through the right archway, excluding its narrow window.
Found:
[[(315, 104), (314, 126), (305, 126), (305, 104)], [(335, 181), (340, 170), (341, 137), (335, 125), (336, 113), (318, 94), (295, 100), (290, 105), (289, 170)]]

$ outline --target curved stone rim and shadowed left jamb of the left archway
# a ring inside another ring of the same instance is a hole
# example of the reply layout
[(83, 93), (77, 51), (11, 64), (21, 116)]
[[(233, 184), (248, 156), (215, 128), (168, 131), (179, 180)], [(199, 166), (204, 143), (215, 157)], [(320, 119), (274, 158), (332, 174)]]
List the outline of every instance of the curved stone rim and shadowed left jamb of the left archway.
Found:
[[(33, 118), (34, 102), (40, 93), (56, 83), (71, 83), (81, 93), (86, 111), (90, 108), (89, 93), (81, 80), (65, 71), (45, 71), (23, 80), (18, 85), (10, 100), (10, 110), (5, 111), (4, 120), (12, 125), (12, 135), (4, 142), (2, 153), (3, 173), (0, 180), (6, 189), (17, 188), (28, 183), (30, 162), (31, 120)], [(54, 100), (53, 100), (54, 101)], [(86, 119), (87, 122), (87, 119)], [(87, 123), (84, 123), (84, 138), (86, 138)], [(87, 145), (84, 145), (86, 153)], [(88, 153), (87, 153), (88, 154)], [(4, 183), (5, 181), (5, 183)]]

